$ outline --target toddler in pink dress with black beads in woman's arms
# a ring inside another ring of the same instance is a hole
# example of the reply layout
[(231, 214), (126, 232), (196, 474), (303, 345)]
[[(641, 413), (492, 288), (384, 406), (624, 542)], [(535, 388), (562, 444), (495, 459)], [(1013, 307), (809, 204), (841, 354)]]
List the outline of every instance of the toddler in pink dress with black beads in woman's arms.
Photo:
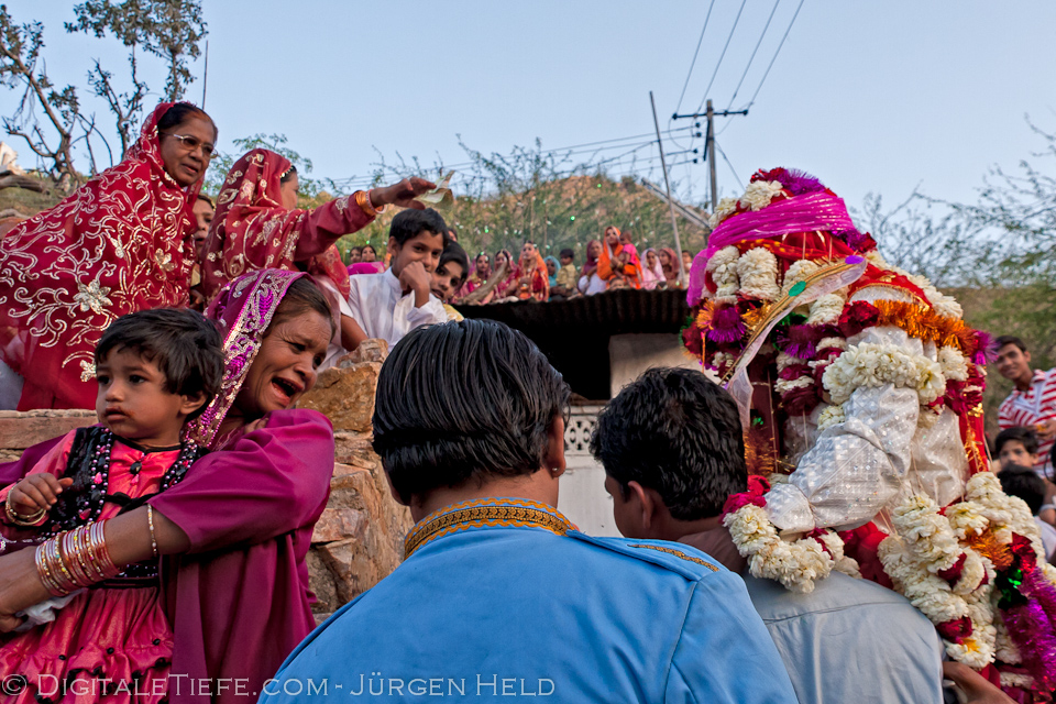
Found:
[[(99, 534), (107, 519), (183, 480), (205, 453), (182, 436), (220, 388), (220, 333), (193, 310), (134, 312), (107, 329), (95, 362), (100, 425), (69, 432), (25, 477), (0, 491), (0, 534), (16, 546), (43, 543), (37, 569), (57, 597), (52, 608), (45, 602), (29, 609), (29, 629), (0, 646), (0, 681), (24, 675), (26, 701), (44, 675), (64, 681), (92, 670), (111, 676), (140, 671), (146, 682), (166, 676), (172, 659), (156, 556), (118, 573)], [(50, 551), (56, 544), (67, 563), (76, 554), (81, 570), (61, 569)], [(94, 588), (82, 588), (89, 584)], [(55, 606), (62, 606), (57, 615)], [(124, 644), (123, 652), (94, 647), (103, 630), (108, 642)]]

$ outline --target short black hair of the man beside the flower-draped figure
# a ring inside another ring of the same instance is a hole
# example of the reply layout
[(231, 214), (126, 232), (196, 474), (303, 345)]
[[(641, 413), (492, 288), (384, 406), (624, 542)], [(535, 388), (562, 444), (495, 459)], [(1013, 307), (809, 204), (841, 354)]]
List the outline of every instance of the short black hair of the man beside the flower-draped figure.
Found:
[(653, 369), (626, 386), (598, 415), (591, 453), (625, 496), (638, 482), (679, 520), (717, 516), (748, 484), (737, 404), (693, 370)]

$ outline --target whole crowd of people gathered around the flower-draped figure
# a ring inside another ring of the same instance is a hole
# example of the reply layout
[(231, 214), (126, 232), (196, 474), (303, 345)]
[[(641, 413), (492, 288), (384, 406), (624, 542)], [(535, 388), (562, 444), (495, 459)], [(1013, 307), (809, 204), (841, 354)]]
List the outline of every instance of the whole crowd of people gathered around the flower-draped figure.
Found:
[[(817, 179), (759, 172), (691, 262), (609, 227), (582, 266), (526, 242), (471, 267), (424, 179), (305, 210), (253, 150), (202, 196), (217, 134), (163, 103), (2, 240), (0, 404), (99, 421), (0, 464), (4, 701), (1052, 700), (1056, 372), (884, 262)], [(342, 262), (389, 206), (384, 253)], [(624, 537), (586, 536), (557, 509), (568, 384), (448, 304), (682, 282), (697, 369), (602, 411)], [(367, 339), (391, 348), (373, 448), (416, 522), (312, 631), (334, 437), (296, 406)], [(988, 452), (991, 346), (1016, 388)]]

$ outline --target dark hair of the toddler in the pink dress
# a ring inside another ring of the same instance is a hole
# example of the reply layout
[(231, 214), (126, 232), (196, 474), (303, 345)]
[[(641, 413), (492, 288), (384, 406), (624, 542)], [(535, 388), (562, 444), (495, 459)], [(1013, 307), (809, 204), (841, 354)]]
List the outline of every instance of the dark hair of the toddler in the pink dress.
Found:
[(194, 396), (201, 392), (205, 403), (196, 417), (220, 391), (223, 351), (220, 332), (211, 320), (187, 308), (155, 308), (121, 316), (110, 323), (96, 345), (96, 364), (113, 351), (130, 350), (155, 364), (165, 375), (169, 394)]

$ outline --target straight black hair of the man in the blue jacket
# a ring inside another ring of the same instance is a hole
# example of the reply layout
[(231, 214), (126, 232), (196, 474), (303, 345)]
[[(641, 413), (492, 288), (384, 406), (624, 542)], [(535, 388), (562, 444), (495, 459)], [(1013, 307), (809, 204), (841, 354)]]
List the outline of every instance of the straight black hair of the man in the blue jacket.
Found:
[(570, 391), (522, 333), (492, 320), (416, 328), (382, 366), (374, 450), (413, 496), (543, 468)]

